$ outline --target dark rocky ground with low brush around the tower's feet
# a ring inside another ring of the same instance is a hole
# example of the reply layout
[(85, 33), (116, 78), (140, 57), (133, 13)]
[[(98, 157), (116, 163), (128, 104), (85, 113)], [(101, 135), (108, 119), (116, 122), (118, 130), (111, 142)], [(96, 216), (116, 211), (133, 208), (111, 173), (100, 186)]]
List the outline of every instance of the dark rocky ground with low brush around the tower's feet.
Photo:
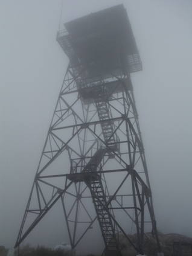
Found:
[[(131, 237), (133, 243), (137, 246), (136, 234), (128, 235)], [(118, 240), (120, 241), (120, 249), (121, 255), (123, 256), (135, 256), (135, 249), (130, 245), (129, 241), (122, 233), (118, 233)], [(157, 255), (156, 247), (152, 245), (156, 245), (155, 238), (151, 233), (146, 233), (146, 237), (144, 238), (144, 254), (147, 256), (155, 256)], [(164, 256), (191, 256), (192, 255), (192, 238), (187, 237), (185, 235), (180, 234), (162, 234), (159, 232), (159, 242), (161, 244), (162, 251), (164, 252)], [(173, 243), (181, 242), (181, 244), (190, 244), (190, 245), (181, 245), (181, 250), (179, 250), (179, 246), (176, 245), (174, 247), (173, 252)], [(8, 249), (5, 249), (4, 246), (0, 246), (0, 256), (6, 256)], [(56, 255), (55, 251), (51, 251), (51, 249), (43, 248), (42, 246), (38, 246), (37, 249), (31, 248), (29, 245), (24, 246), (21, 249), (22, 256), (60, 256)]]

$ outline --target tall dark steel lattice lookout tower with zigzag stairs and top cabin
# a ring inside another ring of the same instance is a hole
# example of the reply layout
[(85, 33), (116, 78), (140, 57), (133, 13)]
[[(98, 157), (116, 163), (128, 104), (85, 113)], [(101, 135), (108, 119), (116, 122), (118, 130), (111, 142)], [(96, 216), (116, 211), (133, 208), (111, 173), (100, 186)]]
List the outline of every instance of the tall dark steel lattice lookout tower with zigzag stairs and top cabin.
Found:
[(152, 231), (161, 252), (130, 80), (142, 65), (126, 10), (117, 5), (65, 28), (57, 41), (69, 65), (15, 247), (61, 200), (72, 249), (98, 220), (106, 255), (120, 251), (120, 232), (143, 254)]

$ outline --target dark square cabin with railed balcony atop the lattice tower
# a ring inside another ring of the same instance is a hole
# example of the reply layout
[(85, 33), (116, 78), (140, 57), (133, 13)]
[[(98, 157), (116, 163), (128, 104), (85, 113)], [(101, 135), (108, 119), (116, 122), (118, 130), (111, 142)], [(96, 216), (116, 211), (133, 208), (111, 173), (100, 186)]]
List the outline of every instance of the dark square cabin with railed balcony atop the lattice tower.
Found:
[[(71, 65), (83, 78), (101, 75), (104, 79), (120, 76), (122, 70), (142, 70), (138, 48), (123, 4), (91, 13), (67, 22), (66, 30), (57, 33)], [(81, 68), (82, 70), (82, 68)]]

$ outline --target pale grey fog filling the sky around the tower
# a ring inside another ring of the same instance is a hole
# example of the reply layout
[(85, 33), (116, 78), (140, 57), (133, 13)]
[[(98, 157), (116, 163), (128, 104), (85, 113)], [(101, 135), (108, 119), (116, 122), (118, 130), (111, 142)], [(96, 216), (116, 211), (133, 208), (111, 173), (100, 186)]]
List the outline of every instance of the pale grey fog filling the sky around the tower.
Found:
[[(157, 228), (192, 237), (192, 2), (63, 0), (62, 8), (61, 0), (2, 0), (0, 245), (6, 248), (16, 242), (68, 65), (57, 31), (65, 22), (121, 3), (143, 67), (131, 78)], [(56, 206), (24, 244), (69, 242), (61, 205)], [(82, 254), (104, 246), (96, 224), (90, 232), (78, 246)]]

